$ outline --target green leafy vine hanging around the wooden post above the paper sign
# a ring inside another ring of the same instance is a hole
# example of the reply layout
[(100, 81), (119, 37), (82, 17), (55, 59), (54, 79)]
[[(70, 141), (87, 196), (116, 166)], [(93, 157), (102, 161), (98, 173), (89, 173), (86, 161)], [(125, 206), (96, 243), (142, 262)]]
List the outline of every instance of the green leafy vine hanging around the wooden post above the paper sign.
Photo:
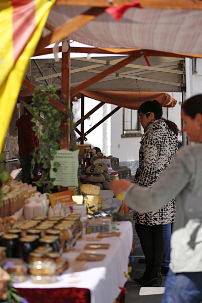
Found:
[[(70, 134), (70, 144), (69, 150), (76, 150), (76, 136), (75, 136), (75, 123), (73, 121), (74, 117), (72, 111), (68, 108), (65, 103), (65, 99), (61, 99), (56, 93), (56, 88), (53, 85), (48, 85), (43, 87), (35, 87), (33, 91), (32, 104), (29, 108), (34, 112), (34, 117), (31, 120), (36, 123), (39, 116), (39, 111), (43, 114), (44, 124), (42, 128), (42, 134), (40, 135), (40, 144), (37, 150), (33, 150), (30, 154), (33, 157), (31, 164), (31, 178), (33, 178), (33, 169), (35, 163), (38, 163), (42, 166), (42, 175), (39, 181), (36, 182), (37, 186), (43, 185), (43, 190), (51, 193), (54, 188), (53, 182), (55, 179), (50, 179), (49, 173), (51, 170), (51, 160), (54, 160), (54, 156), (57, 153), (57, 150), (60, 149), (59, 139), (64, 138), (64, 130), (61, 129), (61, 124), (66, 121), (68, 122), (69, 129), (68, 133)], [(59, 102), (63, 103), (66, 107), (67, 116), (65, 116), (60, 110), (54, 107), (49, 102), (49, 96), (54, 97)], [(64, 96), (65, 97), (65, 96)], [(35, 135), (39, 136), (38, 126), (33, 126), (32, 129), (35, 131)], [(54, 162), (54, 171), (57, 172), (60, 164)], [(78, 179), (82, 178), (80, 170), (78, 170)], [(46, 182), (47, 184), (44, 184)], [(79, 192), (80, 192), (80, 181), (79, 181)]]

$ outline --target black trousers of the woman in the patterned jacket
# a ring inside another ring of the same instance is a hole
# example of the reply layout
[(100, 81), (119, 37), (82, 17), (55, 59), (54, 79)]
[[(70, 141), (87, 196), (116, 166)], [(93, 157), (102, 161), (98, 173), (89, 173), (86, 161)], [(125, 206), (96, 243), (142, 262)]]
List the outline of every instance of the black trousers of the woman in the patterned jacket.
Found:
[(135, 224), (137, 235), (146, 259), (146, 268), (153, 272), (161, 269), (164, 259), (164, 231), (163, 225)]

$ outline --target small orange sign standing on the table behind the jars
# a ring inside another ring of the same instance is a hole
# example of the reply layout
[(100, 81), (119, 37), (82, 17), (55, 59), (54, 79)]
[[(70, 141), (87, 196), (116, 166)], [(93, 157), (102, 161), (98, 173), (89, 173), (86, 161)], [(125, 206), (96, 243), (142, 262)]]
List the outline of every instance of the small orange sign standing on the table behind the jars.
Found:
[(65, 203), (65, 214), (66, 215), (70, 214), (71, 213), (71, 208), (74, 205), (76, 205), (76, 203), (72, 200), (71, 190), (66, 190), (66, 191), (61, 191), (61, 192), (49, 194), (49, 199), (50, 199), (52, 208), (54, 208), (54, 206), (56, 205), (57, 200), (60, 203)]

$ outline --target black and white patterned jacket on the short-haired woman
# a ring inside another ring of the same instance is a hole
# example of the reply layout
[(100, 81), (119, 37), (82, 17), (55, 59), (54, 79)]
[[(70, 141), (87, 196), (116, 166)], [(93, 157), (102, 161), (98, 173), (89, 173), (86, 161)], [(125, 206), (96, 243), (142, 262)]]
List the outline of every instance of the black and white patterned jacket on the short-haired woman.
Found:
[[(134, 183), (150, 187), (157, 181), (161, 173), (171, 164), (178, 149), (178, 139), (168, 128), (164, 120), (155, 120), (147, 127), (142, 136), (139, 149), (139, 168)], [(142, 225), (159, 225), (175, 221), (175, 199), (155, 212), (134, 212), (135, 223)]]

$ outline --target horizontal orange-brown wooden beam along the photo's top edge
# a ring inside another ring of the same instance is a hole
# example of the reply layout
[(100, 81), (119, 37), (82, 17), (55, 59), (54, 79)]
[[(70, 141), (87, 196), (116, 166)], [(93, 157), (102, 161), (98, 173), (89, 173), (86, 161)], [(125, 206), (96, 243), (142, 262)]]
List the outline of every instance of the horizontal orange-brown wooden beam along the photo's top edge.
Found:
[[(134, 2), (133, 0), (57, 0), (56, 6), (93, 6), (95, 7), (111, 7), (120, 6)], [(202, 2), (200, 0), (140, 0), (140, 4), (145, 9), (181, 9), (181, 10), (202, 10)]]

